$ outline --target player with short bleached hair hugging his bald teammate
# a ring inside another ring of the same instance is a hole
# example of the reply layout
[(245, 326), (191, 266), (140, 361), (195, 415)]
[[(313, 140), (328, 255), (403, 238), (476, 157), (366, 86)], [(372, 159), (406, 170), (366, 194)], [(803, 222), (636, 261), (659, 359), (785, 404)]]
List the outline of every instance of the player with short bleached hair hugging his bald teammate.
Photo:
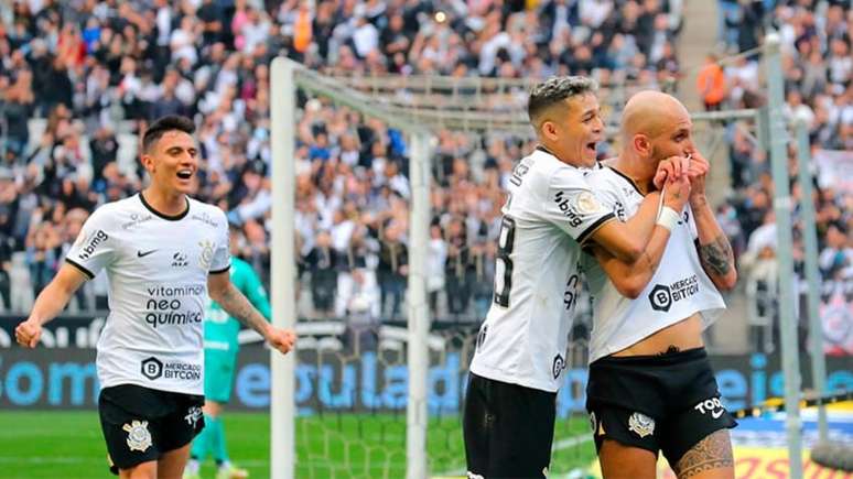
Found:
[[(547, 475), (581, 246), (594, 242), (635, 261), (647, 248), (662, 250), (669, 238), (669, 230), (655, 225), (659, 194), (626, 225), (613, 220), (613, 210), (584, 181), (603, 139), (591, 79), (546, 80), (531, 91), (528, 115), (540, 145), (509, 179), (494, 301), (477, 336), (465, 395), (469, 477)], [(674, 173), (663, 203), (681, 209), (689, 183)]]

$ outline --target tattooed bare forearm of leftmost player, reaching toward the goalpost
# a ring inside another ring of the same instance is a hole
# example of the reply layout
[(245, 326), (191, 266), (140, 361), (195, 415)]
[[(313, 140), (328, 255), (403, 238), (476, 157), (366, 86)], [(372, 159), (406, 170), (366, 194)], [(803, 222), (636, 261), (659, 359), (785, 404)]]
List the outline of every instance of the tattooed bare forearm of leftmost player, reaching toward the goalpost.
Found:
[(208, 275), (207, 290), (210, 292), (213, 301), (219, 303), (223, 309), (237, 320), (258, 331), (271, 347), (282, 353), (293, 349), (293, 344), (296, 340), (295, 334), (290, 329), (280, 329), (267, 323), (263, 315), (231, 284), (230, 274)]

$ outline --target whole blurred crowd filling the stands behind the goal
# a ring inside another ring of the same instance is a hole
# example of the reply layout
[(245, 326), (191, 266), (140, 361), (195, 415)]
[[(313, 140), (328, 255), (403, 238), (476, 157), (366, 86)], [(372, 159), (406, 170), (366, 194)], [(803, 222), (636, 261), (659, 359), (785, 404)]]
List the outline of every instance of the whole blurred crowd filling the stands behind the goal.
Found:
[[(762, 2), (722, 3), (748, 15)], [(751, 20), (754, 28), (739, 23), (733, 45), (751, 48), (766, 25), (779, 28), (790, 115), (810, 122), (816, 149), (853, 149), (850, 11), (823, 0), (778, 3)], [(2, 307), (26, 309), (88, 211), (140, 189), (137, 135), (168, 113), (196, 120), (205, 160), (197, 196), (228, 211), (241, 257), (268, 282), (268, 65), (278, 54), (337, 75), (580, 74), (603, 84), (655, 86), (682, 73), (676, 52), (681, 8), (680, 0), (4, 3)], [(728, 39), (731, 22), (724, 25)], [(720, 74), (725, 89), (719, 104), (762, 101), (753, 59)], [(348, 108), (304, 98), (301, 107), (296, 229), (310, 297), (301, 314), (399, 318), (408, 272), (406, 141), (399, 130)], [(737, 128), (730, 131), (734, 194), (720, 215), (738, 252), (748, 252), (756, 238), (769, 238), (773, 224), (768, 162)], [(439, 317), (476, 320), (485, 314), (501, 185), (532, 145), (507, 135), (439, 133), (428, 279)], [(825, 272), (849, 276), (853, 198), (831, 187), (819, 196), (822, 258), (831, 257)], [(94, 282), (77, 307), (102, 308), (105, 292)]]

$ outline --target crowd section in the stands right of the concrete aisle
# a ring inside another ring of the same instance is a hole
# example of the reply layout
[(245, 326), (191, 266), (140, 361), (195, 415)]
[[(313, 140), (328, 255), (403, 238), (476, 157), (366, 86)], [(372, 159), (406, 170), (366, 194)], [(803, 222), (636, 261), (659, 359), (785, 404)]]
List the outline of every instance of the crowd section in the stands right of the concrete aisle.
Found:
[[(723, 89), (705, 92), (705, 105), (727, 109), (755, 108), (765, 101), (760, 56), (748, 54), (764, 34), (779, 33), (785, 77), (785, 115), (808, 128), (816, 188), (820, 269), (824, 280), (841, 284), (853, 295), (853, 189), (843, 171), (853, 160), (853, 11), (846, 1), (724, 1), (721, 40), (733, 53), (746, 53), (725, 66), (706, 66), (709, 77), (722, 75)], [(700, 83), (700, 88), (704, 85)], [(710, 95), (710, 96), (709, 96)], [(719, 105), (714, 105), (717, 101)], [(709, 101), (712, 100), (712, 101)], [(743, 124), (730, 127), (730, 161), (735, 194), (721, 207), (728, 233), (747, 266), (769, 265), (762, 275), (775, 275), (776, 219), (774, 185), (767, 154), (745, 134)], [(799, 202), (797, 150), (788, 150), (793, 198)], [(845, 166), (846, 165), (846, 166)], [(847, 173), (849, 174), (849, 173)], [(803, 237), (799, 207), (795, 208), (795, 265), (802, 276)], [(770, 260), (769, 263), (763, 260)]]

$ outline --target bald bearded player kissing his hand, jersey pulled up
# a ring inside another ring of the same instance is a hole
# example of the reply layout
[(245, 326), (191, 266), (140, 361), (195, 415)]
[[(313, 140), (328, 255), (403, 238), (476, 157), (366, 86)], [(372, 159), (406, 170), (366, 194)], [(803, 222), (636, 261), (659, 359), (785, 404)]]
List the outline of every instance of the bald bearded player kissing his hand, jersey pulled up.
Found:
[(623, 149), (587, 176), (623, 221), (655, 188), (657, 163), (692, 156), (689, 204), (661, 209), (671, 229), (662, 258), (635, 263), (593, 246), (583, 262), (593, 296), (586, 407), (605, 478), (655, 477), (662, 451), (679, 478), (733, 478), (728, 428), (702, 330), (737, 281), (728, 240), (705, 197), (708, 161), (676, 98), (643, 91), (625, 106)]

